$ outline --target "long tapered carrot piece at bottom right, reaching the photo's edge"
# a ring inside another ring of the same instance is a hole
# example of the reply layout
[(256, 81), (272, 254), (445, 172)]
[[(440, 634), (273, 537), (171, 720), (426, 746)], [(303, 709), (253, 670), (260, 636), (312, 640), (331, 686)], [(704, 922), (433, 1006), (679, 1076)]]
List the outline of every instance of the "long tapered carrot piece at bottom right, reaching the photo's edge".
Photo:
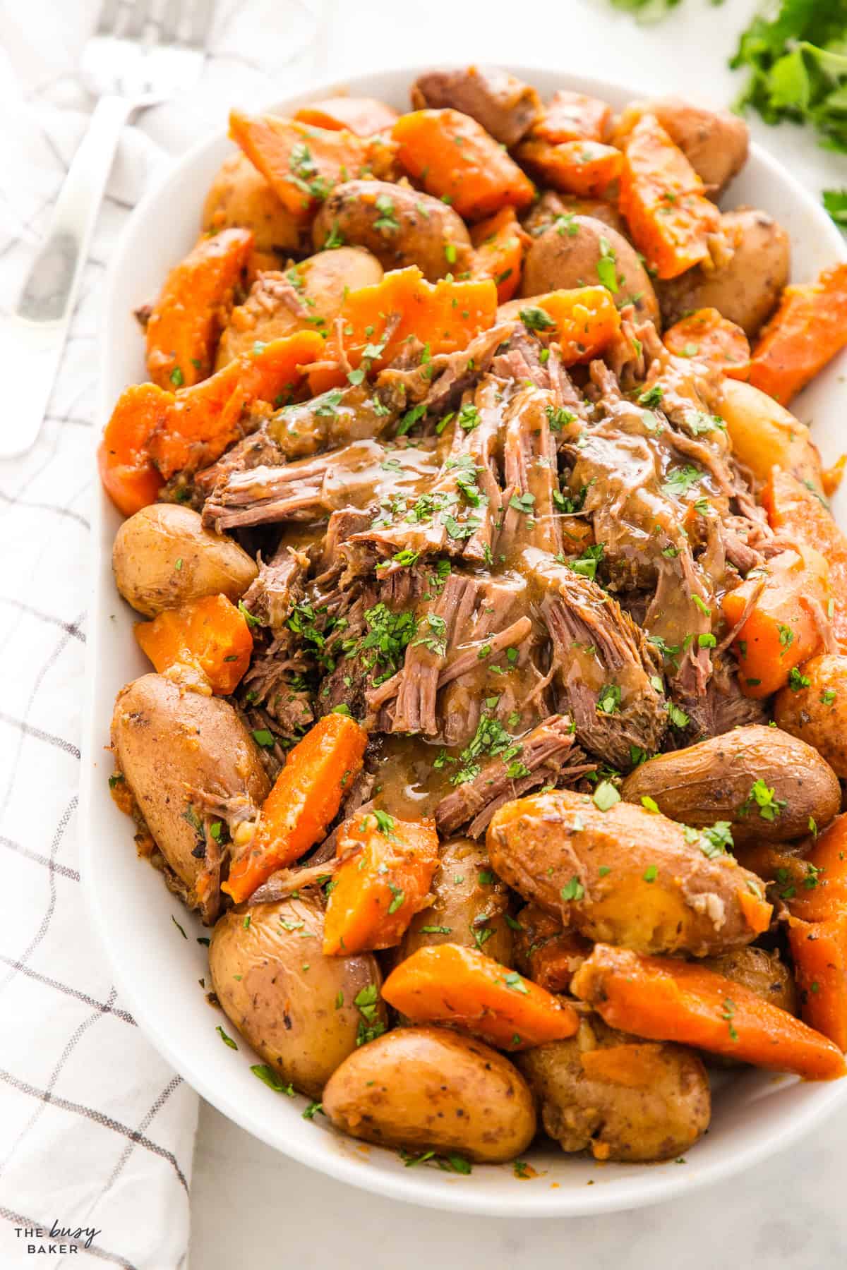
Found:
[(570, 988), (610, 1027), (648, 1040), (696, 1045), (811, 1081), (847, 1072), (843, 1055), (825, 1036), (740, 983), (692, 961), (596, 944)]

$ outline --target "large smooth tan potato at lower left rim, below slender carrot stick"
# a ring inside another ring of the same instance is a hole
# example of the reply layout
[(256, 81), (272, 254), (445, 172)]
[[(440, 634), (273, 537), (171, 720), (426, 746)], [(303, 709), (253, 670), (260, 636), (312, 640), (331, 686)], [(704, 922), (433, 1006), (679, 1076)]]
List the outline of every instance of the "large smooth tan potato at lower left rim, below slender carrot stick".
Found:
[(323, 903), (303, 895), (230, 909), (208, 950), (227, 1019), (286, 1083), (312, 1099), (358, 1038), (387, 1019), (373, 954), (324, 956), (323, 939)]

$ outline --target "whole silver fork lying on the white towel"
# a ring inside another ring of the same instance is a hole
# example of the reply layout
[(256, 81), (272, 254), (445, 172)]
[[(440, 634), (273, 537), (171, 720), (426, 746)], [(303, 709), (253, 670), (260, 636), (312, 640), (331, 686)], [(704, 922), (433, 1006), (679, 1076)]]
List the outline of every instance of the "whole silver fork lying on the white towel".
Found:
[(213, 0), (102, 3), (81, 60), (98, 103), (20, 298), (0, 321), (0, 382), (23, 389), (0, 433), (0, 457), (24, 453), (38, 437), (123, 126), (199, 79), (212, 13)]

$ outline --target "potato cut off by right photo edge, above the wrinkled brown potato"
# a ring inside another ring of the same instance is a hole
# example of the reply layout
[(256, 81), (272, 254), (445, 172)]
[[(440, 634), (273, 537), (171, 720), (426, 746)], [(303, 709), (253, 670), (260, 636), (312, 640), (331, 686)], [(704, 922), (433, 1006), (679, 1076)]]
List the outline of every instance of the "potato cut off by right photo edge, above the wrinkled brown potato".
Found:
[(836, 776), (847, 780), (847, 657), (813, 657), (797, 676), (796, 687), (790, 681), (777, 692), (773, 718), (785, 732), (814, 745)]

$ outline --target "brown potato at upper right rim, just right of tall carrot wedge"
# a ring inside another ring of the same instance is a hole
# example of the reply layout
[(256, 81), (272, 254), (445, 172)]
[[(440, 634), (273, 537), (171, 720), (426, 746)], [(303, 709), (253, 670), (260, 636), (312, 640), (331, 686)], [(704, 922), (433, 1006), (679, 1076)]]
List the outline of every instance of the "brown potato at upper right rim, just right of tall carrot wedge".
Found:
[(670, 326), (693, 309), (717, 309), (753, 339), (789, 281), (789, 236), (772, 216), (754, 207), (726, 212), (721, 224), (735, 254), (720, 268), (706, 272), (697, 265), (658, 283), (662, 318)]

